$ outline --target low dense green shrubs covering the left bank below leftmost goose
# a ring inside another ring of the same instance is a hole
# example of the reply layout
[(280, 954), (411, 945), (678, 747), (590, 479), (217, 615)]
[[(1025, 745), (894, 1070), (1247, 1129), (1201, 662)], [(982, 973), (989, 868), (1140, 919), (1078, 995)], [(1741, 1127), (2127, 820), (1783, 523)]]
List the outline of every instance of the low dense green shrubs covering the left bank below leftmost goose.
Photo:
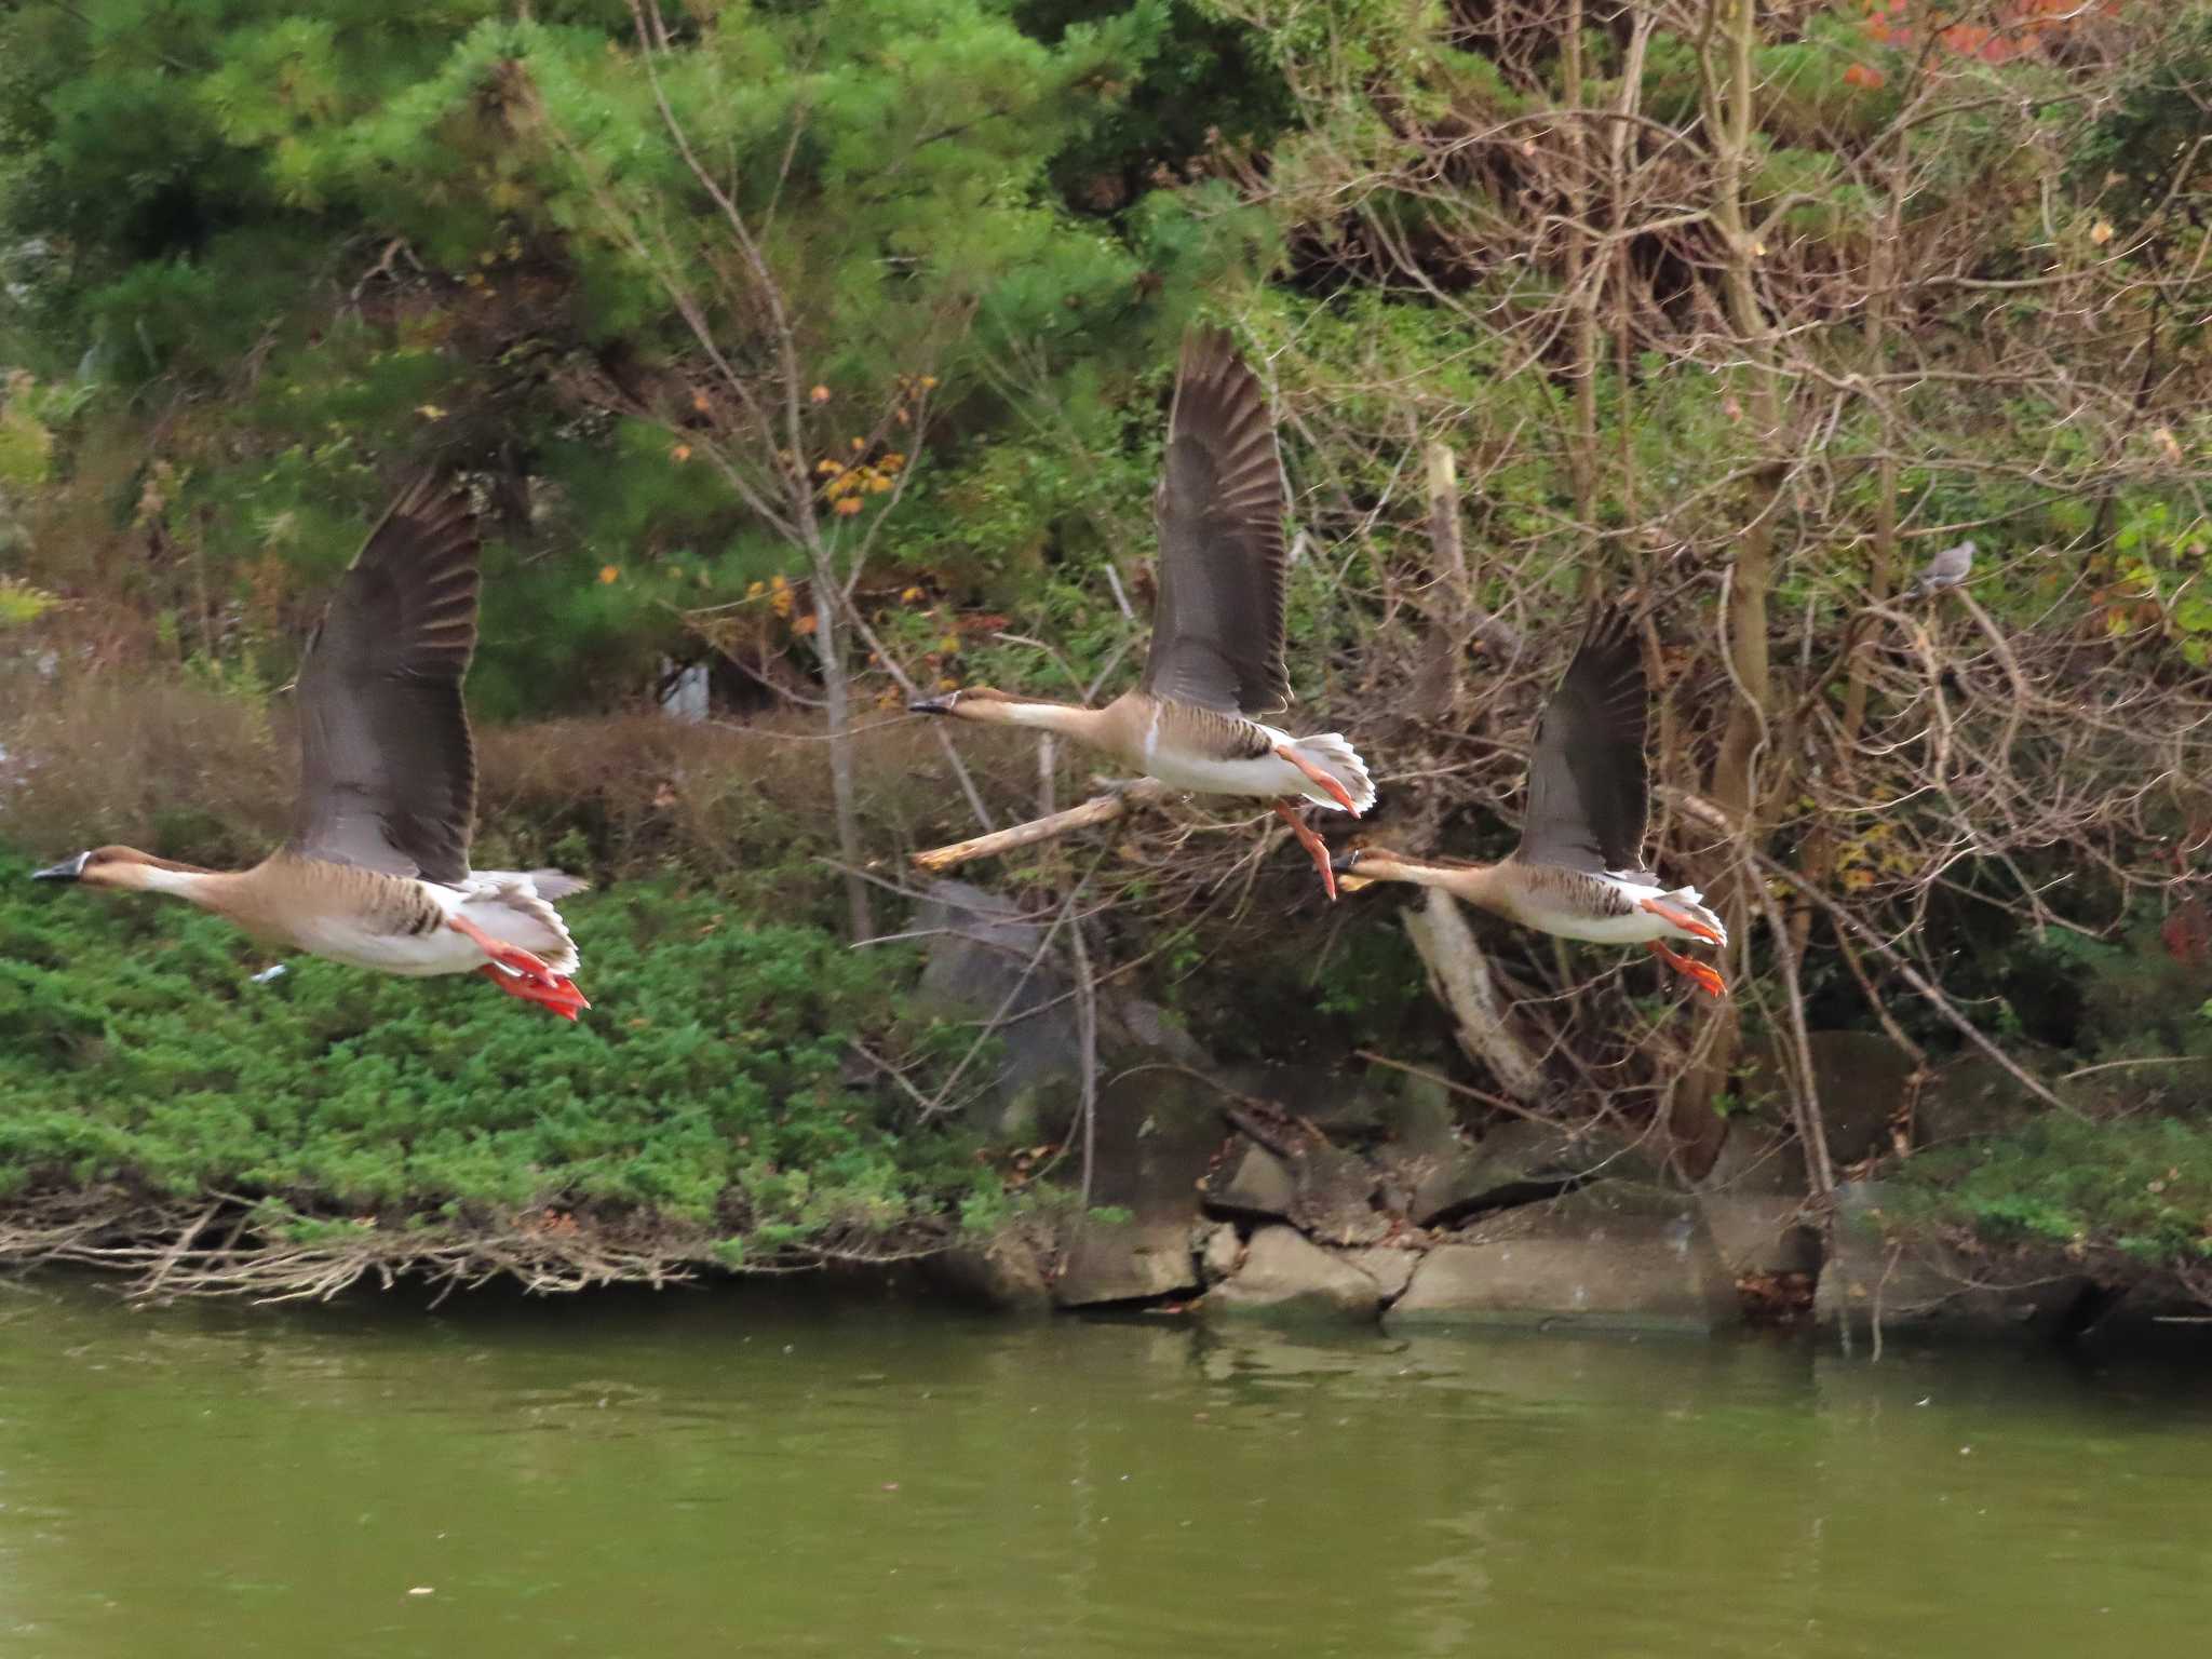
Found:
[(124, 1183), (383, 1225), (586, 1210), (741, 1261), (942, 1234), (995, 1192), (956, 1137), (849, 1079), (863, 1033), (927, 1077), (938, 1035), (894, 1013), (898, 949), (624, 887), (571, 905), (604, 1013), (566, 1026), (473, 978), (299, 958), (257, 984), (270, 956), (226, 922), (27, 872), (0, 856), (11, 1197)]

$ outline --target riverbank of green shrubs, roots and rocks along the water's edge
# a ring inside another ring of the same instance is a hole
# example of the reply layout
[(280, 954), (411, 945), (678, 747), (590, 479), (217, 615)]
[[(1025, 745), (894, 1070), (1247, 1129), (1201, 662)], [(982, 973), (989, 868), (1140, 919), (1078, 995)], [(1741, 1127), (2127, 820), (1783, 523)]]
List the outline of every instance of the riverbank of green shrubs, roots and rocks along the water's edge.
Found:
[[(940, 883), (920, 942), (872, 951), (675, 878), (595, 894), (575, 927), (624, 1013), (555, 1031), (473, 982), (257, 978), (212, 918), (24, 874), (0, 854), (0, 1263), (144, 1296), (914, 1261), (916, 1294), (1000, 1310), (1871, 1340), (2066, 1340), (2212, 1301), (2185, 1124), (2020, 1128), (1969, 1062), (1913, 1091), (1933, 1150), (1885, 1164), (1896, 1077), (1856, 1033), (1818, 1042), (1827, 1159), (1851, 1175), (1832, 1212), (1756, 1117), (1681, 1183), (1650, 1124), (1469, 1110), (1418, 1066), (1221, 1064), (1128, 993), (1095, 1011), (1084, 1170), (1073, 987), (1035, 962), (1044, 925), (978, 887)], [(978, 1046), (989, 1018), (1011, 1024)], [(987, 1060), (956, 1110), (925, 1110), (956, 1055)], [(2017, 1168), (1997, 1186), (2024, 1139), (2064, 1159), (2079, 1212)]]

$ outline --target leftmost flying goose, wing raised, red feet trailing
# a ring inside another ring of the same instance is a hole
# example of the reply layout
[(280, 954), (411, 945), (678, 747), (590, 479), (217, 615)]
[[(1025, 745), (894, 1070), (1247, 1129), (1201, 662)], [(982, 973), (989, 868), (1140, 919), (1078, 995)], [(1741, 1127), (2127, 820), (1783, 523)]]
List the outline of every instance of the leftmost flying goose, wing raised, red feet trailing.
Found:
[(476, 752), (460, 679), (476, 650), (476, 522), (425, 476), (338, 582), (301, 661), (301, 790), (290, 841), (252, 869), (93, 847), (40, 880), (175, 894), (254, 938), (420, 978), (482, 971), (564, 1020), (575, 942), (557, 869), (469, 869)]

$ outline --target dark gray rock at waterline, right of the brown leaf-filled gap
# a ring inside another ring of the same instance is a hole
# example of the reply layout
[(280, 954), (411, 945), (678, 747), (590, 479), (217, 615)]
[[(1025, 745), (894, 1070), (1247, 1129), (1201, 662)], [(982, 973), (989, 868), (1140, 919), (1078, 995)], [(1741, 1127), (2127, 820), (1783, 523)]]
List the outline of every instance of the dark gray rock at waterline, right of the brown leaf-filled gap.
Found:
[(1887, 1181), (1843, 1181), (1827, 1265), (1814, 1290), (1820, 1325), (1854, 1332), (1911, 1329), (1927, 1336), (1991, 1332), (2055, 1334), (2090, 1292), (2086, 1274), (2006, 1272), (1924, 1232), (1887, 1228)]

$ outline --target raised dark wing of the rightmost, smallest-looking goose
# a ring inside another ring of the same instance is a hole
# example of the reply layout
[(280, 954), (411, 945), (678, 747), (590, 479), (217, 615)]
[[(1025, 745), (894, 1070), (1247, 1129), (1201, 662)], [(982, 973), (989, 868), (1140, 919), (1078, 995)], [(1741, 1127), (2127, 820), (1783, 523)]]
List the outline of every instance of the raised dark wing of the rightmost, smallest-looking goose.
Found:
[(1628, 613), (1599, 608), (1544, 706), (1528, 752), (1520, 858), (1568, 869), (1641, 869), (1644, 644)]

